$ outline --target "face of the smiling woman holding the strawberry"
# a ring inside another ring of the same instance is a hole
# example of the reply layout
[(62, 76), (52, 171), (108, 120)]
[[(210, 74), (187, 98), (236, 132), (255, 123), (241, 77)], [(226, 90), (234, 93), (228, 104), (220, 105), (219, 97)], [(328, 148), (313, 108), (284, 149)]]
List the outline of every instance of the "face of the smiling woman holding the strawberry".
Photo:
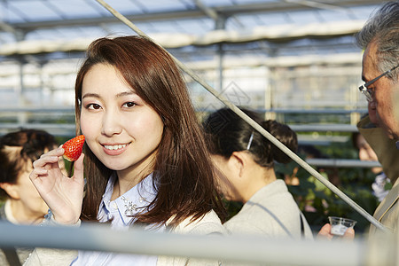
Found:
[(127, 173), (146, 169), (156, 156), (163, 126), (160, 115), (113, 66), (98, 64), (85, 75), (82, 134), (107, 168)]

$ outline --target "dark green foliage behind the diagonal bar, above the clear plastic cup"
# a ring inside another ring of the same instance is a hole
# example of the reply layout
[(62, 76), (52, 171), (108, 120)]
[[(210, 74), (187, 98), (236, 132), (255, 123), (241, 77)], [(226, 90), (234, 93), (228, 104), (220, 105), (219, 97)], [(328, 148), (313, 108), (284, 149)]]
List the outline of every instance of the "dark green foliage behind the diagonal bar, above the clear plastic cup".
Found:
[[(356, 159), (357, 156), (356, 150), (348, 143), (317, 148), (334, 159)], [(300, 154), (300, 156), (303, 159), (306, 155)], [(288, 189), (314, 231), (318, 231), (325, 223), (328, 223), (328, 216), (356, 220), (356, 236), (368, 230), (370, 222), (363, 215), (359, 215), (356, 210), (349, 207), (348, 203), (332, 193), (308, 171), (303, 168), (295, 171), (295, 168), (298, 168), (298, 165), (296, 162), (291, 162), (287, 165), (276, 166), (276, 172), (281, 177), (287, 173), (296, 172), (295, 176), (298, 177), (300, 184), (288, 185)], [(369, 168), (317, 168), (317, 171), (369, 214), (374, 213), (379, 202), (372, 195), (372, 182), (375, 176)]]

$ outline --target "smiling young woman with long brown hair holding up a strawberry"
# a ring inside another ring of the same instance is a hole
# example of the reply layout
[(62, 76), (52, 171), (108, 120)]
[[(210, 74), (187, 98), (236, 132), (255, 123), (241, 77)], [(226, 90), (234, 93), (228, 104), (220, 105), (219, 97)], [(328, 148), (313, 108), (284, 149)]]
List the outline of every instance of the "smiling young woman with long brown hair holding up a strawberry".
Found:
[[(218, 217), (224, 209), (200, 124), (166, 51), (137, 36), (91, 43), (77, 74), (75, 107), (78, 133), (86, 138), (84, 166), (82, 155), (74, 176), (63, 176), (55, 164), (64, 153), (59, 148), (36, 160), (30, 175), (51, 208), (52, 223), (82, 219), (113, 228), (140, 224), (153, 231), (224, 233)], [(79, 252), (72, 265), (188, 262)]]

